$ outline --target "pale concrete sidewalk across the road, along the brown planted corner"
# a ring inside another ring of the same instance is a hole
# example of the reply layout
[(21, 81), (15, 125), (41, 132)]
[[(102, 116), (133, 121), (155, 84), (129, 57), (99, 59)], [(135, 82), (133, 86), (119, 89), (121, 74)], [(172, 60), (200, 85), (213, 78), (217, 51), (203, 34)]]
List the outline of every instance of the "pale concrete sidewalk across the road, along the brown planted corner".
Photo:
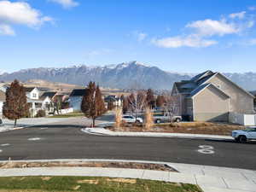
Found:
[(102, 127), (84, 128), (84, 133), (98, 136), (119, 136), (119, 137), (177, 137), (177, 138), (197, 138), (197, 139), (214, 139), (214, 140), (234, 140), (230, 136), (217, 136), (205, 134), (188, 134), (188, 133), (163, 133), (163, 132), (135, 132), (135, 131), (110, 131)]

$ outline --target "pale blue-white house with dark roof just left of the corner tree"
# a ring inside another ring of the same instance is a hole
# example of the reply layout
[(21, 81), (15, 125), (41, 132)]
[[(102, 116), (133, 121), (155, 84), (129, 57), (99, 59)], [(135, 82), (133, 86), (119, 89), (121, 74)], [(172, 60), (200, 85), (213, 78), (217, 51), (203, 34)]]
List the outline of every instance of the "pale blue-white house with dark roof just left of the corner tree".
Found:
[(73, 108), (74, 111), (81, 110), (81, 103), (83, 100), (84, 93), (85, 89), (75, 89), (71, 92), (68, 101), (70, 108)]

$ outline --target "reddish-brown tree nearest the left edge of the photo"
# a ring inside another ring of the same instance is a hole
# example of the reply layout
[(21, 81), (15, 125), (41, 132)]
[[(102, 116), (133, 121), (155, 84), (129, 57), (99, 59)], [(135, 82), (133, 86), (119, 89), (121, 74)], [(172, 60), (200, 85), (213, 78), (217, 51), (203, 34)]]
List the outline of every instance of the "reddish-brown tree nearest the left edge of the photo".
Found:
[(3, 104), (3, 115), (11, 120), (24, 118), (29, 114), (29, 105), (26, 102), (26, 90), (18, 80), (10, 85), (6, 90), (6, 102)]

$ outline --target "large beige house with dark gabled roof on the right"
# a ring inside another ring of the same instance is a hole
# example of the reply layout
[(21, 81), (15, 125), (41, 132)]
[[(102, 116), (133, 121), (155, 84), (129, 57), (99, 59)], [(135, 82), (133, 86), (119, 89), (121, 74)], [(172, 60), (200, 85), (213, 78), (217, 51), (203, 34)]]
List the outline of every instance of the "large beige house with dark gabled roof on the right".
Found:
[(181, 97), (183, 116), (195, 121), (229, 121), (229, 114), (255, 113), (254, 96), (221, 73), (207, 71), (173, 84), (172, 96)]

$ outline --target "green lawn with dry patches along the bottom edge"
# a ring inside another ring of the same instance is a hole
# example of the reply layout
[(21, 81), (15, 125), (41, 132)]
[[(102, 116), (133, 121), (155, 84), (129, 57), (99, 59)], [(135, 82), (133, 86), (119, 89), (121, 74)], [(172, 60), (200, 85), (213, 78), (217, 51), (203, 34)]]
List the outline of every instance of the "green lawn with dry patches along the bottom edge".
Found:
[(201, 192), (197, 186), (108, 177), (0, 177), (0, 192)]

